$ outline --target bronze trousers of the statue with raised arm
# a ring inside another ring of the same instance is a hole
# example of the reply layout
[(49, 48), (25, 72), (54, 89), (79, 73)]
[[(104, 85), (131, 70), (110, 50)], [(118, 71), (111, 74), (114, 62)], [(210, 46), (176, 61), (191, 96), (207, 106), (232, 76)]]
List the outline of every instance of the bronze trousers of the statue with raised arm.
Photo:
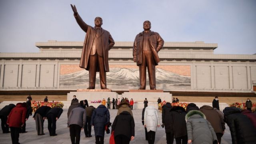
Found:
[(106, 88), (106, 72), (104, 70), (104, 59), (96, 52), (93, 56), (89, 56), (89, 88), (95, 88), (96, 72), (100, 72), (100, 88)]

